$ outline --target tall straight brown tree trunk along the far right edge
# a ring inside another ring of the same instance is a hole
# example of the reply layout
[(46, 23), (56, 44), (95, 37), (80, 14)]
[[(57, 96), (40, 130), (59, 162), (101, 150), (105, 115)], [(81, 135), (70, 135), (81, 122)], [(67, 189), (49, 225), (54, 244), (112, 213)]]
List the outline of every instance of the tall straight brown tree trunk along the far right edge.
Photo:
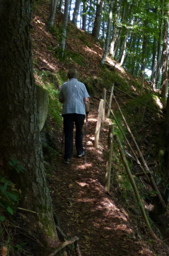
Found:
[(166, 98), (167, 93), (167, 61), (168, 61), (168, 4), (164, 0), (164, 23), (163, 23), (163, 47), (162, 47), (162, 77), (161, 77), (161, 97)]

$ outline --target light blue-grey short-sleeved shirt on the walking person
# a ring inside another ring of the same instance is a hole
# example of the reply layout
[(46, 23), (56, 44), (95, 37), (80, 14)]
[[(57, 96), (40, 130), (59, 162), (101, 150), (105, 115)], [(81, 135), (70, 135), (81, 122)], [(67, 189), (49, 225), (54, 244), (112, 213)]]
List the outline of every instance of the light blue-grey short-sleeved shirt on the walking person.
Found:
[(63, 100), (62, 115), (64, 114), (86, 114), (84, 98), (89, 98), (85, 84), (71, 78), (65, 82), (60, 89), (59, 99)]

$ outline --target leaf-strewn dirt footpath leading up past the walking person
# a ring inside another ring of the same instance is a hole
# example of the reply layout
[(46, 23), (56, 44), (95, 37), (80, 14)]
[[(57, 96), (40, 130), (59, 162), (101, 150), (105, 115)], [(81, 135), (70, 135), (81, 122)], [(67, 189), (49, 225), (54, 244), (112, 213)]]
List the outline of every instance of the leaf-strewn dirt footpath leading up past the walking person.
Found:
[[(100, 131), (98, 148), (93, 147), (98, 105), (88, 118), (87, 158), (77, 158), (75, 145), (69, 165), (59, 154), (52, 175), (52, 197), (62, 231), (79, 238), (81, 254), (85, 255), (168, 255), (159, 239), (152, 239), (142, 216), (123, 208), (111, 185), (111, 196), (104, 189), (106, 147), (109, 119)], [(84, 125), (85, 135), (85, 125)], [(61, 141), (62, 131), (57, 134)], [(61, 152), (61, 143), (58, 143)], [(85, 145), (85, 136), (83, 136)], [(162, 249), (163, 247), (163, 249)], [(74, 250), (72, 250), (72, 254)]]

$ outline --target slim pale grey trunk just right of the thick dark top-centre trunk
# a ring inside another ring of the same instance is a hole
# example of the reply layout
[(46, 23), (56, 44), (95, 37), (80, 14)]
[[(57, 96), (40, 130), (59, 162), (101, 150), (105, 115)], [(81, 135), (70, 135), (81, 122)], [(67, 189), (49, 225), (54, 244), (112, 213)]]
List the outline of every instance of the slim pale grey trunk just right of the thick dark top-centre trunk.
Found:
[(103, 53), (103, 56), (102, 56), (102, 59), (101, 59), (101, 64), (104, 64), (104, 61), (106, 59), (106, 56), (107, 56), (107, 53), (108, 53), (108, 49), (109, 49), (112, 13), (113, 13), (113, 0), (110, 1), (109, 20), (108, 20), (108, 26), (107, 26), (106, 43), (105, 43), (104, 53)]

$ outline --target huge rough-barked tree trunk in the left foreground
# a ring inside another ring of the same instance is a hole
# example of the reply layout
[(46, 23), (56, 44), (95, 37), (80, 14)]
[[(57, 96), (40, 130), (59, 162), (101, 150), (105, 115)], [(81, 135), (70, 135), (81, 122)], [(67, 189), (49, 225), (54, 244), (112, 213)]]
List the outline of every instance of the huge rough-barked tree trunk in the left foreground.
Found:
[[(31, 7), (31, 0), (0, 1), (0, 157), (4, 175), (22, 192), (20, 205), (38, 213), (31, 216), (33, 227), (45, 239), (58, 240), (39, 136), (29, 38)], [(11, 157), (25, 168), (24, 173), (10, 171)]]

